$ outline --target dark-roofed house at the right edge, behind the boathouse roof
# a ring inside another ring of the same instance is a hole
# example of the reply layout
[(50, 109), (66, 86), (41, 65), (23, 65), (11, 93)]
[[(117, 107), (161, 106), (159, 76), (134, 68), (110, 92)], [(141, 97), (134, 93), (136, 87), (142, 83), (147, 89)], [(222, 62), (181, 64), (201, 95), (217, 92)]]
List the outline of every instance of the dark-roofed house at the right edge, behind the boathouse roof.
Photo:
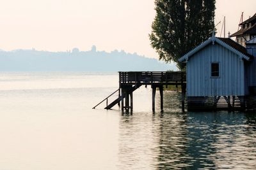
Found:
[(236, 37), (236, 42), (245, 46), (246, 41), (250, 41), (250, 39), (256, 36), (256, 13), (253, 17), (239, 24), (239, 27), (241, 29), (232, 34), (231, 37)]

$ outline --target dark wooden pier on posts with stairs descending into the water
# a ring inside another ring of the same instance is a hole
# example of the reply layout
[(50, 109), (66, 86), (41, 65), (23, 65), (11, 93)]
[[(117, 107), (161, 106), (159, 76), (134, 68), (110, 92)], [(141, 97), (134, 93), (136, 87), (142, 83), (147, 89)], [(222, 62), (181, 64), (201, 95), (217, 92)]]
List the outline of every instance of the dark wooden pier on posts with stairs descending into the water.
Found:
[[(108, 98), (106, 97), (99, 104), (106, 101), (107, 110), (113, 108), (116, 104), (120, 106), (122, 111), (133, 110), (133, 92), (145, 85), (148, 85), (152, 88), (152, 111), (155, 111), (155, 98), (156, 98), (156, 89), (159, 89), (160, 92), (160, 100), (161, 100), (161, 111), (163, 112), (163, 89), (164, 86), (168, 87), (168, 85), (180, 85), (182, 89), (182, 111), (185, 110), (185, 93), (186, 93), (186, 72), (183, 71), (132, 71), (132, 72), (119, 72), (119, 89), (116, 90), (113, 94), (118, 92), (118, 98), (112, 103), (108, 104)], [(97, 104), (93, 109), (95, 109)]]

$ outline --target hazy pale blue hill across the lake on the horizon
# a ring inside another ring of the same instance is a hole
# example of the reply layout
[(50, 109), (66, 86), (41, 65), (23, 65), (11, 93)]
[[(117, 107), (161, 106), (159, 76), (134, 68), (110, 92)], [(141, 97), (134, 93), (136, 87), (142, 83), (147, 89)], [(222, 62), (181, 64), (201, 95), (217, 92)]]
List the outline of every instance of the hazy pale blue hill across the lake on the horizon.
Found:
[(0, 50), (0, 71), (166, 71), (176, 70), (175, 64), (165, 64), (136, 53), (46, 52), (33, 50)]

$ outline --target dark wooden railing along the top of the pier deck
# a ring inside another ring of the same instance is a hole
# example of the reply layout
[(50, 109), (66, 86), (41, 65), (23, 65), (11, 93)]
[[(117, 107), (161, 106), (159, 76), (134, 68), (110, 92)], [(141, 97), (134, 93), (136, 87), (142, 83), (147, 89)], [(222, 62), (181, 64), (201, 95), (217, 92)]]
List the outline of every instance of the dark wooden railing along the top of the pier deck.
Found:
[(152, 85), (153, 83), (163, 83), (166, 85), (186, 83), (186, 72), (184, 71), (140, 71), (140, 72), (119, 72), (120, 86), (124, 84), (141, 83)]

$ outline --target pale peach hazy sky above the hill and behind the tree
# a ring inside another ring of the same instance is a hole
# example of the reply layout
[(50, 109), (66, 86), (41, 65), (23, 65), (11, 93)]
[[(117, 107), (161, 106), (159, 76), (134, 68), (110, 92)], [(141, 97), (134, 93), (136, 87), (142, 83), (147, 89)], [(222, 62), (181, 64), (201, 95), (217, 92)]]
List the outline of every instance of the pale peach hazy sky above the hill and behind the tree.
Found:
[[(248, 18), (255, 6), (255, 0), (216, 0), (216, 21), (225, 15), (227, 32), (236, 32), (241, 12)], [(1, 0), (0, 49), (90, 50), (96, 45), (157, 57), (148, 39), (154, 16), (154, 0)]]

